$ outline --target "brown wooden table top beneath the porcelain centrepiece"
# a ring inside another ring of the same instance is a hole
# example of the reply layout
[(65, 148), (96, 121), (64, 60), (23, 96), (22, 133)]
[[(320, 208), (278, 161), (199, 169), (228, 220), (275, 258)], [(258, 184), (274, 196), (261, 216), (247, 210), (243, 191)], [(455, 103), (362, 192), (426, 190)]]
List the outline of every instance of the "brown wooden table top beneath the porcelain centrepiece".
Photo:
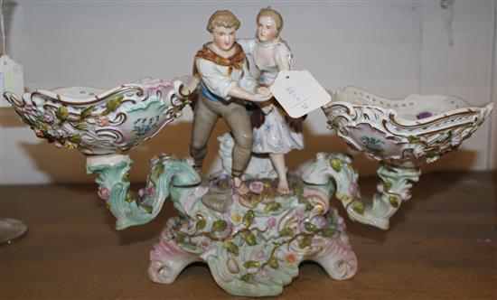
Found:
[[(361, 179), (363, 193), (376, 181)], [(496, 190), (496, 172), (422, 175), (387, 231), (341, 210), (359, 259), (355, 277), (335, 281), (304, 263), (279, 297), (497, 299)], [(234, 298), (203, 264), (172, 285), (151, 282), (148, 252), (175, 213), (171, 202), (149, 224), (118, 231), (96, 192), (96, 184), (0, 187), (0, 217), (28, 225), (23, 238), (0, 247), (1, 299)]]

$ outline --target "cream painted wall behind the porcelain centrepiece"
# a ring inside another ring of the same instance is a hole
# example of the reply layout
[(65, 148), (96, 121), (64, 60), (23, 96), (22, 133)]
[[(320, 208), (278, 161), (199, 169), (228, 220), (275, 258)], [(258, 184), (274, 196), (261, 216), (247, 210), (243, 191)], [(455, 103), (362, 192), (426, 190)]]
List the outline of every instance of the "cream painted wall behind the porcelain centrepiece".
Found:
[[(239, 36), (249, 37), (258, 9), (267, 4), (9, 1), (7, 54), (23, 64), (28, 90), (112, 88), (144, 76), (171, 79), (191, 72), (194, 53), (210, 39), (205, 23), (214, 10), (237, 14)], [(285, 18), (282, 36), (294, 52), (296, 69), (310, 70), (326, 89), (354, 85), (387, 98), (453, 94), (475, 106), (495, 102), (495, 6), (495, 1), (456, 0), (450, 46), (442, 21), (445, 11), (437, 1), (273, 4)], [(78, 152), (57, 150), (37, 139), (11, 108), (1, 108), (0, 114), (0, 183), (93, 180)], [(493, 118), (460, 151), (427, 165), (424, 172), (495, 168), (495, 114)], [(132, 180), (145, 180), (153, 155), (187, 155), (191, 119), (188, 109), (180, 122), (131, 152), (136, 161)], [(228, 129), (220, 122), (215, 131), (220, 135)], [(320, 111), (308, 117), (305, 135), (305, 151), (287, 156), (291, 168), (319, 151), (348, 152), (325, 127)], [(219, 168), (216, 147), (212, 137), (205, 173)], [(375, 162), (363, 155), (354, 159), (361, 173), (374, 173)]]

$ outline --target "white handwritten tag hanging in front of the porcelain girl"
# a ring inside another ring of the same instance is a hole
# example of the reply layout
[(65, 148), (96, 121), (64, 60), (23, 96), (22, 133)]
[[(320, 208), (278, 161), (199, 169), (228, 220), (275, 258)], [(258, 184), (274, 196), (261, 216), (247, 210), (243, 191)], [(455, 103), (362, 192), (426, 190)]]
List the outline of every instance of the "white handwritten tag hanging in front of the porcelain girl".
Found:
[(330, 102), (332, 97), (308, 70), (282, 70), (271, 93), (290, 117), (302, 117)]

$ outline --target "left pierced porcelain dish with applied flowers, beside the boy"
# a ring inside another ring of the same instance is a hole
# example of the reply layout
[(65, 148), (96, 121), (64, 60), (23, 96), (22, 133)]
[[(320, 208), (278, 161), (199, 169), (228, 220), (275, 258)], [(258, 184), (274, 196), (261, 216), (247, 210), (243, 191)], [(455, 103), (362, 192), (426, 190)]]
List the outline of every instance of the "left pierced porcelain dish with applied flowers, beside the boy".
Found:
[(179, 117), (187, 103), (181, 80), (130, 83), (114, 89), (38, 89), (5, 93), (36, 136), (84, 155), (127, 152)]

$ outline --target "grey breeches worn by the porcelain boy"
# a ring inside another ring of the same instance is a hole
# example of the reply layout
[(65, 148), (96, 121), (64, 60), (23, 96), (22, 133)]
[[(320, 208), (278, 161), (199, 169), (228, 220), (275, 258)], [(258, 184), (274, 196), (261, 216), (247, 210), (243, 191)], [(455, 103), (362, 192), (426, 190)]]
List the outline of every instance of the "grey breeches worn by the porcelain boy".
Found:
[(190, 155), (195, 161), (195, 166), (197, 168), (202, 167), (203, 158), (207, 154), (207, 141), (218, 121), (218, 117), (224, 118), (235, 139), (231, 174), (239, 177), (247, 168), (252, 149), (250, 117), (247, 109), (243, 107), (239, 100), (224, 104), (220, 101), (206, 98), (202, 93), (199, 95), (193, 112)]

